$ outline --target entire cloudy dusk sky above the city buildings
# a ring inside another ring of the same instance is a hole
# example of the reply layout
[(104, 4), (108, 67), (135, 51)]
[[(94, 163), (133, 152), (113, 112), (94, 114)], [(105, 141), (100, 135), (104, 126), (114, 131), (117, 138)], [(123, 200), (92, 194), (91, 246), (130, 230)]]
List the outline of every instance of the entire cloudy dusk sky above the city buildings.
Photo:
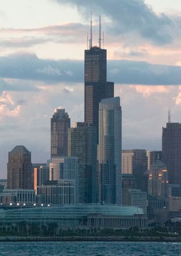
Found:
[(122, 148), (161, 149), (168, 120), (181, 122), (180, 0), (0, 0), (0, 178), (8, 152), (50, 157), (50, 119), (64, 106), (83, 121), (84, 49), (93, 13), (107, 49), (107, 80), (121, 97)]

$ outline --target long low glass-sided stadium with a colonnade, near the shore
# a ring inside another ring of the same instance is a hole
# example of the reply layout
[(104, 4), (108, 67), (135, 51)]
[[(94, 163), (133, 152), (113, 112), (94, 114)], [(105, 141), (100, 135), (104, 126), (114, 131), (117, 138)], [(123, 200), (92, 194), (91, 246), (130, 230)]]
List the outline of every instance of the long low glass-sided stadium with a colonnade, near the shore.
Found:
[(148, 228), (148, 219), (143, 209), (133, 206), (68, 204), (1, 210), (1, 228), (11, 228), (22, 221), (38, 227), (54, 224), (59, 229), (87, 229), (93, 232), (97, 229)]

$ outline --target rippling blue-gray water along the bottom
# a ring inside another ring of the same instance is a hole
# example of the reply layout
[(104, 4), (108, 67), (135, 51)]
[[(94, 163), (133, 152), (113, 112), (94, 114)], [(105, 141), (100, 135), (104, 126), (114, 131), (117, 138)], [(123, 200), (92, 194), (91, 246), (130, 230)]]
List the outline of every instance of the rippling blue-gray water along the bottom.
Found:
[(7, 256), (178, 256), (181, 243), (161, 242), (1, 242)]

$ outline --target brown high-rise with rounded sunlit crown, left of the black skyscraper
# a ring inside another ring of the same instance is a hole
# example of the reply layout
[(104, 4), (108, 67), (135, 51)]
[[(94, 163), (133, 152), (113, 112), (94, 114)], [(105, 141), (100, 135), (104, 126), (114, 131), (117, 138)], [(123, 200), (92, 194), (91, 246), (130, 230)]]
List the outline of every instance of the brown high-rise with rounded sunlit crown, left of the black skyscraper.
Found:
[(51, 118), (51, 157), (67, 156), (70, 118), (62, 107), (56, 108)]

